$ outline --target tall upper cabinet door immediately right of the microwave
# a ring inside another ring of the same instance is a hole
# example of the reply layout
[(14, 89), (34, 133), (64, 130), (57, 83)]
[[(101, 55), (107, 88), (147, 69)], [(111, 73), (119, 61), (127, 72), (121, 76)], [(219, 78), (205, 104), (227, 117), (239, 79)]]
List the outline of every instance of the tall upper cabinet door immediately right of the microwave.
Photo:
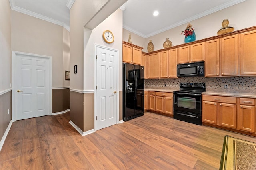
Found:
[(220, 39), (205, 42), (205, 77), (220, 75)]

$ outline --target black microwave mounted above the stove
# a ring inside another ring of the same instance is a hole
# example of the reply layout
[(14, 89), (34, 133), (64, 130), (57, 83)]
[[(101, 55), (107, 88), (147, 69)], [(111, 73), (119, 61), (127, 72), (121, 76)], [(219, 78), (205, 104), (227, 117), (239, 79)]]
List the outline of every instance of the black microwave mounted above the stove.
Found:
[(178, 64), (177, 77), (204, 76), (204, 61)]

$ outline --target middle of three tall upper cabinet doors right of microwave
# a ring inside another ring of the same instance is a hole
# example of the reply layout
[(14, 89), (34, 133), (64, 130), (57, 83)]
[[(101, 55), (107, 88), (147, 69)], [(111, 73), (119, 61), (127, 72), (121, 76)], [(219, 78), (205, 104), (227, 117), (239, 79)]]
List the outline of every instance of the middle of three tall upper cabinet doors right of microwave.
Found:
[(238, 75), (238, 35), (221, 39), (221, 75)]

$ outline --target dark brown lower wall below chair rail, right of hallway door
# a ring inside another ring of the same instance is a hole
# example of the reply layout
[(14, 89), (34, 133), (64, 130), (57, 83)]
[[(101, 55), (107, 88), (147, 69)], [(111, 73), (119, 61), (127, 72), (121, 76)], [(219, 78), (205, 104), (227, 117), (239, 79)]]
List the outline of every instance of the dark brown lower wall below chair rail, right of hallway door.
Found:
[(62, 112), (70, 108), (69, 89), (52, 89), (52, 113)]

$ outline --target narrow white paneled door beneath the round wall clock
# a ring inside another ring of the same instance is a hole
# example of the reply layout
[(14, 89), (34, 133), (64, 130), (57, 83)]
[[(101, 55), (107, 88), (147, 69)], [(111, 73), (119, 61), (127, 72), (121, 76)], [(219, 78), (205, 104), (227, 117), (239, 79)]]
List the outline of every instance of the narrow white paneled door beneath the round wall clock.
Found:
[(96, 47), (96, 126), (95, 130), (109, 127), (118, 119), (117, 63), (118, 51)]

